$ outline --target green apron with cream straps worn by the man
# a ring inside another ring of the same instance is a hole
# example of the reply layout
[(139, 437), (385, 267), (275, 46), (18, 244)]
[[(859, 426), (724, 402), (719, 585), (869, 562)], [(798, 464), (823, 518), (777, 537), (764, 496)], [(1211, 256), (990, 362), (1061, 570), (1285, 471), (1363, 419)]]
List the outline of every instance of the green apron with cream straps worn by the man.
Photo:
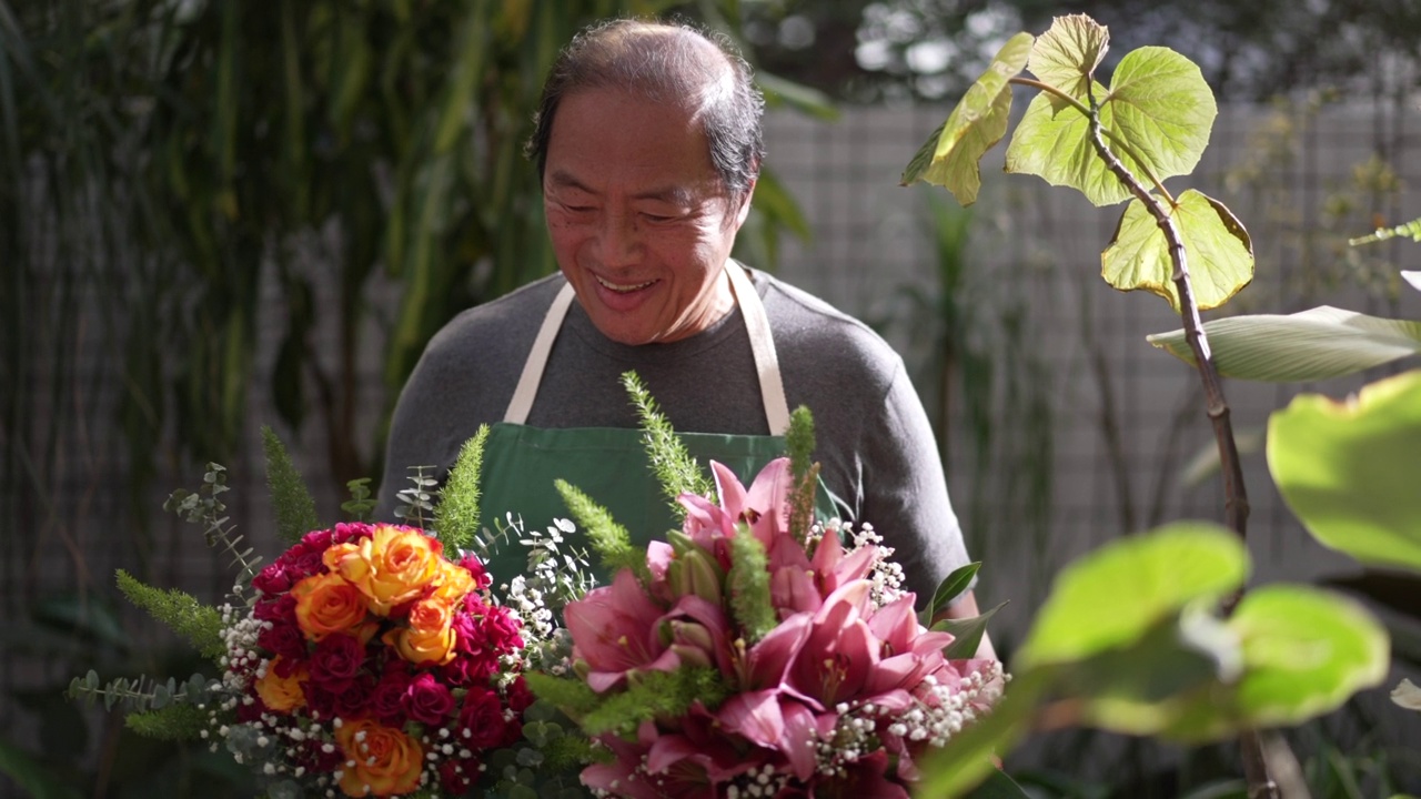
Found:
[[(743, 267), (728, 262), (726, 273), (730, 276), (730, 287), (750, 334), (750, 350), (755, 354), (760, 397), (772, 435), (684, 431), (678, 431), (678, 435), (686, 451), (706, 469), (706, 475), (710, 461), (718, 461), (749, 486), (766, 463), (786, 454), (789, 407), (784, 401), (784, 384), (764, 304), (760, 303), (760, 296)], [(607, 508), (612, 519), (631, 533), (632, 543), (645, 547), (654, 539), (665, 539), (666, 532), (678, 529), (679, 525), (674, 522), (669, 500), (651, 472), (641, 431), (534, 428), (523, 424), (533, 407), (553, 341), (571, 301), (573, 287), (566, 284), (543, 318), (543, 327), (523, 364), (523, 375), (503, 421), (489, 429), (480, 475), (482, 525), (490, 529), (496, 523), (507, 525), (506, 515), (512, 513), (514, 519), (522, 518), (524, 530), (544, 530), (553, 519), (570, 518), (563, 498), (554, 488), (554, 481), (563, 479)], [(816, 508), (823, 519), (837, 515), (823, 481), (816, 492)], [(590, 552), (591, 547), (576, 537), (570, 540), (576, 546), (588, 549), (595, 567), (597, 556)], [(506, 583), (526, 572), (527, 549), (516, 540), (502, 543), (487, 567), (495, 586)], [(611, 576), (598, 573), (597, 577), (600, 584), (607, 584)]]

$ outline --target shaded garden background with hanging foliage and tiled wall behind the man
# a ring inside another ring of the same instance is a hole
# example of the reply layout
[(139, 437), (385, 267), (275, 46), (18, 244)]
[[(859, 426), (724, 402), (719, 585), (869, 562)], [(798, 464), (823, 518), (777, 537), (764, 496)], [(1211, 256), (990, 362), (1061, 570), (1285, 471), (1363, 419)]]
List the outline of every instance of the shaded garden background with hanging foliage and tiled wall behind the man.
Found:
[[(90, 665), (180, 663), (176, 641), (117, 597), (115, 569), (205, 599), (230, 580), (163, 498), (222, 462), (233, 520), (271, 553), (260, 425), (290, 444), (325, 519), (345, 481), (378, 475), (385, 415), (422, 341), (551, 269), (517, 155), (536, 65), (581, 20), (624, 10), (239, 6), (0, 3), (0, 751), (68, 769), (80, 795), (145, 795), (139, 775), (183, 786), (217, 768), (121, 738), (60, 695)], [(766, 81), (772, 173), (740, 254), (904, 354), (985, 563), (979, 600), (1009, 600), (992, 627), (1006, 654), (1063, 563), (1164, 520), (1219, 519), (1222, 492), (1201, 456), (1212, 435), (1194, 375), (1144, 340), (1178, 318), (1098, 284), (1118, 209), (1005, 176), (1000, 151), (969, 210), (898, 186), (958, 73), (973, 78), (1002, 33), (1091, 11), (1111, 26), (1113, 57), (1165, 44), (1205, 67), (1221, 114), (1189, 185), (1229, 203), (1258, 256), (1226, 313), (1334, 304), (1421, 318), (1421, 297), (1395, 279), (1421, 269), (1421, 246), (1346, 245), (1421, 216), (1421, 11), (1407, 3), (1320, 4), (1313, 38), (1337, 41), (1310, 53), (1306, 26), (1285, 17), (1302, 11), (1268, 3), (1275, 23), (1299, 26), (1295, 40), (1249, 40), (1208, 13), (1191, 27), (1165, 4), (1171, 27), (1124, 1), (735, 6), (682, 10), (797, 81)], [(172, 40), (186, 50), (165, 50)], [(1228, 43), (1238, 53), (1221, 58)], [(1329, 50), (1343, 45), (1351, 60)], [(1370, 596), (1395, 624), (1390, 687), (1421, 661), (1415, 583), (1363, 573), (1309, 537), (1256, 432), (1297, 391), (1343, 397), (1377, 374), (1226, 390), (1253, 446), (1255, 583)], [(1377, 795), (1383, 772), (1418, 792), (1418, 726), (1377, 690), (1293, 739), (1319, 796)], [(1076, 731), (1009, 765), (1074, 783), (1059, 795), (1175, 796), (1231, 756)]]

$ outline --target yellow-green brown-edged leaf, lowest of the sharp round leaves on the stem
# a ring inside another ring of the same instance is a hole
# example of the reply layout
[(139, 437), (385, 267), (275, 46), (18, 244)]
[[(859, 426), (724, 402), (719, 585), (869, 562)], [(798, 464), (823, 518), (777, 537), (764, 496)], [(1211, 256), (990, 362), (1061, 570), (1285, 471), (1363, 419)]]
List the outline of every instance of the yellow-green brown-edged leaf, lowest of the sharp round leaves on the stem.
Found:
[[(1169, 210), (1184, 240), (1199, 310), (1222, 306), (1253, 280), (1253, 242), (1223, 203), (1189, 189)], [(1169, 242), (1141, 200), (1125, 206), (1115, 236), (1100, 254), (1101, 277), (1121, 291), (1144, 289), (1179, 311)]]

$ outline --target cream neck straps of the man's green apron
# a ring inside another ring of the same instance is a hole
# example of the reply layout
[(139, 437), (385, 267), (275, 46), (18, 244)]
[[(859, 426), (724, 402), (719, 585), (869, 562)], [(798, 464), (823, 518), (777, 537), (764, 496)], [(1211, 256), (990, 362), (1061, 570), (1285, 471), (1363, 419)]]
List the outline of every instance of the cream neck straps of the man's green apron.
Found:
[[(760, 378), (760, 400), (764, 405), (764, 419), (770, 425), (770, 435), (784, 435), (790, 429), (789, 404), (784, 401), (784, 380), (780, 375), (780, 363), (774, 354), (774, 340), (770, 337), (770, 320), (764, 313), (764, 303), (756, 293), (755, 284), (737, 263), (728, 260), (726, 274), (730, 277), (730, 290), (735, 301), (740, 306), (740, 316), (745, 317), (745, 330), (750, 336), (750, 351), (755, 355), (755, 371)], [(533, 340), (533, 348), (523, 363), (523, 374), (519, 385), (513, 390), (509, 408), (503, 414), (503, 421), (514, 425), (527, 422), (529, 411), (533, 409), (533, 400), (537, 397), (537, 387), (543, 381), (543, 370), (547, 367), (549, 354), (553, 351), (553, 341), (563, 327), (567, 309), (573, 304), (573, 284), (564, 283), (563, 289), (553, 299), (543, 326)]]

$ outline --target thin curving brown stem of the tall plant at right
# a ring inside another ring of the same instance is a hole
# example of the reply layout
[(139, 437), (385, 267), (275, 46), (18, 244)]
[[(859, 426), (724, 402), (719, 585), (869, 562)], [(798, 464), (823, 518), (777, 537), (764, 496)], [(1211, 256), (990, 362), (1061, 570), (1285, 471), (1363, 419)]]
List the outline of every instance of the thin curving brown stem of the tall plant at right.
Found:
[[(1169, 277), (1174, 280), (1175, 291), (1179, 294), (1179, 317), (1184, 320), (1184, 337), (1194, 353), (1194, 363), (1204, 384), (1205, 405), (1209, 422), (1214, 425), (1214, 439), (1219, 449), (1219, 465), (1223, 472), (1223, 516), (1229, 527), (1241, 539), (1246, 540), (1249, 505), (1248, 490), (1243, 486), (1243, 465), (1239, 459), (1238, 442), (1233, 438), (1233, 425), (1229, 421), (1229, 404), (1223, 398), (1223, 384), (1219, 381), (1218, 368), (1214, 367), (1214, 357), (1209, 353), (1209, 338), (1204, 333), (1204, 323), (1199, 320), (1199, 304), (1194, 299), (1184, 237), (1179, 235), (1179, 227), (1175, 225), (1174, 218), (1169, 216), (1169, 210), (1106, 146), (1106, 139), (1101, 136), (1100, 108), (1094, 102), (1091, 102), (1090, 108), (1090, 144), (1110, 168), (1111, 173), (1130, 189), (1130, 193), (1135, 195), (1145, 205), (1145, 209), (1154, 216), (1160, 230), (1164, 232), (1165, 242), (1169, 245), (1169, 260), (1174, 263), (1174, 273)], [(1243, 599), (1242, 587), (1225, 599), (1225, 616), (1233, 611), (1241, 599)], [(1248, 781), (1249, 799), (1279, 799), (1277, 782), (1269, 775), (1258, 732), (1245, 731), (1241, 734), (1239, 749), (1243, 758), (1243, 776)]]

